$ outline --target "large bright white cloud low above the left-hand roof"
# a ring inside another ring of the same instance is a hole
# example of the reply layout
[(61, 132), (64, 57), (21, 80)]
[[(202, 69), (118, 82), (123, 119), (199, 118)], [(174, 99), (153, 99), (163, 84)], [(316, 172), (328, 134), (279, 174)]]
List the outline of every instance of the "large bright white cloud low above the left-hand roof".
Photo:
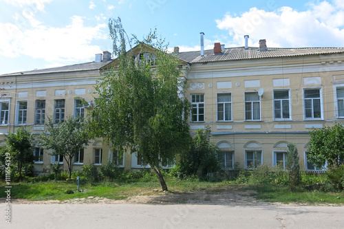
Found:
[(65, 28), (47, 28), (37, 25), (32, 30), (20, 30), (17, 25), (0, 23), (0, 54), (3, 56), (26, 55), (43, 58), (45, 61), (72, 63), (89, 61), (100, 53), (98, 45), (91, 45), (94, 39), (107, 39), (105, 23), (85, 27), (83, 18), (74, 16)]

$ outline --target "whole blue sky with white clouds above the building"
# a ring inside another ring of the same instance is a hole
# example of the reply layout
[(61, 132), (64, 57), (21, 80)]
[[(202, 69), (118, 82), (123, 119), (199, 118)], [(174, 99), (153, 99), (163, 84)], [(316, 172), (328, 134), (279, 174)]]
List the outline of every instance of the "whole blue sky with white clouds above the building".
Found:
[(180, 52), (225, 47), (344, 47), (344, 1), (0, 0), (0, 74), (94, 61), (112, 52), (107, 23), (139, 39), (157, 29)]

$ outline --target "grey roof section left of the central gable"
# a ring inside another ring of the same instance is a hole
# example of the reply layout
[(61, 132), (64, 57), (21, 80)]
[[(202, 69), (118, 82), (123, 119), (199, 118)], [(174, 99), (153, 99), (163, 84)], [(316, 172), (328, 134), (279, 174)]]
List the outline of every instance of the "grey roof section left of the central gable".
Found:
[(103, 66), (107, 65), (109, 61), (102, 62), (89, 62), (89, 63), (80, 63), (76, 65), (66, 65), (63, 67), (51, 67), (46, 69), (35, 69), (27, 72), (15, 72), (10, 74), (3, 74), (1, 76), (24, 76), (24, 75), (33, 75), (33, 74), (47, 74), (47, 73), (58, 73), (58, 72), (79, 72), (79, 71), (89, 71), (89, 70), (98, 70)]

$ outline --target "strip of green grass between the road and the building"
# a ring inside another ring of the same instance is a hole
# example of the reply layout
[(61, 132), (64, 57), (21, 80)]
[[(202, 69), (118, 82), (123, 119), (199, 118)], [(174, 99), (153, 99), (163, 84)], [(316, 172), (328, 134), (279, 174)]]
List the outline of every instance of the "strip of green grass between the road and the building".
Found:
[[(202, 191), (208, 195), (231, 192), (233, 190), (256, 190), (255, 197), (259, 201), (299, 203), (299, 204), (344, 204), (344, 192), (324, 193), (299, 188), (294, 192), (288, 186), (277, 184), (245, 184), (235, 182), (201, 182), (198, 180), (180, 180), (166, 177), (166, 183), (171, 194), (195, 193)], [(0, 183), (0, 197), (6, 197), (5, 184)], [(125, 181), (105, 181), (98, 183), (80, 182), (80, 190), (76, 192), (76, 180), (72, 182), (21, 182), (12, 184), (12, 199), (29, 199), (31, 201), (45, 201), (56, 199), (59, 201), (75, 198), (104, 197), (107, 199), (126, 199), (136, 195), (158, 195), (154, 189), (161, 190), (160, 183), (155, 177), (147, 179), (129, 179)], [(71, 192), (74, 190), (74, 192)], [(72, 193), (72, 194), (67, 194)]]

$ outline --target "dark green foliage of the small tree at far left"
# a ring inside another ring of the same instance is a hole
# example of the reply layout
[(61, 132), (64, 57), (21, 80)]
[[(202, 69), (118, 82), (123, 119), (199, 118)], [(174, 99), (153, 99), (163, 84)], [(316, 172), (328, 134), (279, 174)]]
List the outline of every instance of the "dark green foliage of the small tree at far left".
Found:
[[(16, 179), (32, 175), (34, 163), (32, 133), (24, 127), (19, 127), (16, 133), (10, 131), (6, 138), (6, 145), (0, 151), (1, 164), (10, 164), (11, 175), (17, 177)], [(6, 156), (10, 157), (10, 160), (6, 159)]]

